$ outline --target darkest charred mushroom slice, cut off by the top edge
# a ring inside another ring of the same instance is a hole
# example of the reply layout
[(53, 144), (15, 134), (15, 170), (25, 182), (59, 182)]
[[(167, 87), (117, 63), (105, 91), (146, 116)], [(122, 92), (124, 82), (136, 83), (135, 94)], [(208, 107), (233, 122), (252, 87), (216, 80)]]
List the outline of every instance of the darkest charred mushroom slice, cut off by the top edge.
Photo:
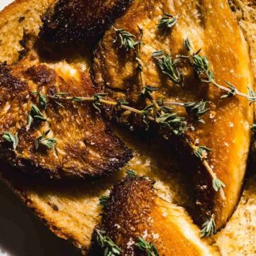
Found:
[(58, 0), (43, 16), (41, 37), (55, 43), (93, 41), (132, 0)]

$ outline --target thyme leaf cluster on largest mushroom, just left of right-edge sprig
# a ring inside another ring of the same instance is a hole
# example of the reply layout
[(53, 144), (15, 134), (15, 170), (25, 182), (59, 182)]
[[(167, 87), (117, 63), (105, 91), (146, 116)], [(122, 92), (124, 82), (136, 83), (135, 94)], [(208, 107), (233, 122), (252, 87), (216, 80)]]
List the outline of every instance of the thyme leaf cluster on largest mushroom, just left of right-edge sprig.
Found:
[(161, 73), (166, 75), (169, 80), (174, 82), (176, 85), (183, 85), (183, 75), (179, 72), (176, 65), (180, 62), (180, 58), (176, 58), (172, 60), (169, 54), (166, 54), (161, 57), (155, 57), (159, 68), (161, 69)]

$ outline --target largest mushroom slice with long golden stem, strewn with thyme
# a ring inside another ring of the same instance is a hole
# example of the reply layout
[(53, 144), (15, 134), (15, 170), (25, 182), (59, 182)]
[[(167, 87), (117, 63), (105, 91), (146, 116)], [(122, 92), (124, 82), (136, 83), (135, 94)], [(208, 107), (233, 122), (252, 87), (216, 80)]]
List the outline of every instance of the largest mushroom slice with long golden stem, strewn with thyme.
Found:
[[(164, 27), (166, 21), (172, 22), (171, 28)], [(136, 42), (139, 38), (144, 43), (140, 50), (137, 46), (125, 49), (125, 40)], [(184, 47), (184, 41), (191, 46)], [(191, 57), (184, 57), (190, 53)], [(203, 68), (196, 71), (196, 61), (204, 56), (208, 58), (207, 72), (214, 73), (215, 78), (203, 75)], [(170, 144), (177, 141), (181, 159), (192, 158), (184, 164), (192, 172), (198, 195), (195, 204), (199, 211), (193, 213), (194, 220), (198, 221), (200, 215), (202, 225), (214, 218), (217, 229), (222, 228), (240, 200), (253, 106), (245, 98), (225, 96), (226, 92), (208, 81), (219, 85), (228, 81), (244, 93), (247, 87), (255, 88), (249, 49), (227, 1), (134, 1), (105, 33), (94, 57), (93, 81), (99, 90), (109, 92), (115, 101), (124, 98), (139, 110), (157, 102), (159, 106), (153, 112), (162, 128), (159, 132), (170, 137)], [(142, 69), (139, 72), (138, 58)], [(150, 101), (143, 92), (146, 86), (154, 87)], [(203, 117), (184, 108), (201, 101), (208, 103), (209, 110), (203, 107)], [(176, 114), (168, 124), (173, 124), (171, 132), (166, 132), (166, 117), (171, 119), (166, 107), (172, 107), (171, 114)], [(145, 122), (145, 116), (134, 115), (132, 124), (140, 117)], [(182, 122), (184, 117), (186, 124)], [(177, 133), (178, 139), (172, 135)]]

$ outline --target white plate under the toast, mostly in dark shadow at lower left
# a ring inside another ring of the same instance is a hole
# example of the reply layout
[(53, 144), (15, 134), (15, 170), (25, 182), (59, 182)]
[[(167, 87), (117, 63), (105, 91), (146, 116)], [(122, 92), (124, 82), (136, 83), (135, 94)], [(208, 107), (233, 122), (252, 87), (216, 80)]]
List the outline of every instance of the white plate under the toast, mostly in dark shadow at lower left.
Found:
[[(0, 0), (0, 10), (11, 2)], [(50, 233), (9, 188), (0, 183), (0, 256), (35, 255), (74, 256), (77, 253), (67, 242)]]

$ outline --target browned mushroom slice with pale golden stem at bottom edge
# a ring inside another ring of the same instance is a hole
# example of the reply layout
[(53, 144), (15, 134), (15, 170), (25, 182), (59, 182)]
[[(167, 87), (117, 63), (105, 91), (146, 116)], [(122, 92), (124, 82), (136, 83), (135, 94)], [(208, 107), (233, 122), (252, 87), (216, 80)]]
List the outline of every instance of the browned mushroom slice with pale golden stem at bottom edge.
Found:
[(95, 228), (92, 255), (113, 250), (105, 243), (109, 239), (120, 255), (144, 255), (138, 243), (151, 245), (149, 250), (159, 255), (220, 255), (210, 240), (200, 239), (200, 230), (183, 208), (156, 196), (153, 184), (143, 177), (127, 177), (114, 187), (103, 208), (102, 224)]

